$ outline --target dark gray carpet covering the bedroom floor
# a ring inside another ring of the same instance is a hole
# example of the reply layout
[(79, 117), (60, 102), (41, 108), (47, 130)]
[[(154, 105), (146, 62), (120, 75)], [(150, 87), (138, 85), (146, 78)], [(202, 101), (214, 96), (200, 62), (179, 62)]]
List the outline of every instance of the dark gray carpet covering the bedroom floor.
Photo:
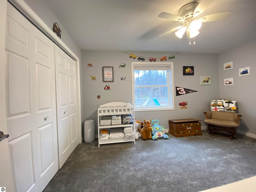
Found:
[(198, 192), (256, 176), (256, 139), (210, 136), (79, 144), (44, 192)]

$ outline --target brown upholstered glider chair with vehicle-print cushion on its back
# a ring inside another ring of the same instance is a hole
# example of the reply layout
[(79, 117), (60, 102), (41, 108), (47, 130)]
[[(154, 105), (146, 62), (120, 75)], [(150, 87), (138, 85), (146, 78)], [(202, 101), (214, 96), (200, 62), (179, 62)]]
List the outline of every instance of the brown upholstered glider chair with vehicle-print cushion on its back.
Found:
[(208, 124), (208, 132), (214, 136), (230, 138), (236, 137), (236, 128), (239, 126), (241, 114), (236, 113), (237, 102), (234, 100), (213, 100), (211, 110), (205, 111), (204, 122)]

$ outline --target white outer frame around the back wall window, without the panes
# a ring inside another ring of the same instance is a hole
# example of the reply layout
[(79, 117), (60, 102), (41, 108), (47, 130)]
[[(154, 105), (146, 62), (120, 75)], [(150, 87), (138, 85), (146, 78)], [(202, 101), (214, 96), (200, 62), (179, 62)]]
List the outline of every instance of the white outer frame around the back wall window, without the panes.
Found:
[[(167, 76), (168, 84), (168, 106), (150, 106), (145, 108), (136, 108), (135, 106), (135, 84), (134, 84), (134, 66), (166, 66), (170, 67), (170, 73)], [(131, 72), (132, 72), (132, 104), (134, 106), (134, 111), (162, 111), (162, 110), (174, 110), (174, 70), (173, 62), (131, 62)]]

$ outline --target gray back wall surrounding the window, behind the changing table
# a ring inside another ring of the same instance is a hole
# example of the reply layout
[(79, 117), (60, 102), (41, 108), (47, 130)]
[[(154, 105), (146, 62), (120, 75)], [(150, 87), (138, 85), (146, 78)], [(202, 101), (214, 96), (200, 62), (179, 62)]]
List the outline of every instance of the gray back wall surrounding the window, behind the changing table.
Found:
[[(137, 56), (150, 56), (160, 58), (169, 56), (169, 52), (130, 52)], [(148, 59), (147, 59), (148, 60)], [(104, 103), (120, 101), (132, 103), (132, 85), (131, 85), (131, 62), (138, 62), (129, 57), (122, 51), (82, 51), (82, 86), (83, 86), (83, 106), (84, 116), (82, 121), (93, 119), (97, 128), (97, 108)], [(146, 61), (146, 60), (145, 60)], [(158, 62), (160, 60), (158, 59)], [(174, 93), (175, 110), (167, 111), (148, 111), (135, 112), (135, 119), (143, 121), (143, 119), (158, 119), (160, 125), (165, 129), (169, 129), (168, 120), (183, 118), (202, 119), (204, 124), (205, 110), (210, 110), (210, 100), (219, 98), (219, 75), (218, 75), (218, 55), (216, 54), (186, 54), (180, 53), (176, 55), (174, 60), (174, 86), (196, 90), (198, 92), (176, 96)], [(88, 67), (87, 64), (93, 67)], [(121, 63), (125, 63), (125, 68), (119, 68)], [(102, 67), (114, 67), (114, 82), (102, 82)], [(194, 76), (183, 76), (183, 66), (194, 66)], [(96, 80), (91, 80), (92, 76), (96, 76)], [(200, 76), (211, 76), (212, 85), (200, 85)], [(125, 81), (121, 81), (121, 76), (126, 77)], [(110, 90), (104, 90), (109, 84)], [(97, 95), (101, 98), (97, 99)], [(180, 109), (179, 102), (188, 102), (187, 109)]]

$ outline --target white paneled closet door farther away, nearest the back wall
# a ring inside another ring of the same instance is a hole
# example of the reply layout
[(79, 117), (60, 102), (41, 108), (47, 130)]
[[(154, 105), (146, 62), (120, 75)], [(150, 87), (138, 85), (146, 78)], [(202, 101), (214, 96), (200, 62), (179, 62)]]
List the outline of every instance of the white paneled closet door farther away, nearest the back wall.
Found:
[(59, 168), (78, 145), (76, 62), (55, 45)]

